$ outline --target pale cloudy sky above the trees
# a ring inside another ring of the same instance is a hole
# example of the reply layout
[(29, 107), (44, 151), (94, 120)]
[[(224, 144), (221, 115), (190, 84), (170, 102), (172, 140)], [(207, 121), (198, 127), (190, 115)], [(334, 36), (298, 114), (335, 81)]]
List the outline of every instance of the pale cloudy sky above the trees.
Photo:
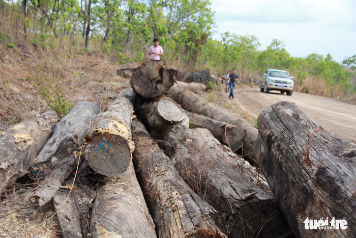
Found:
[(283, 41), (292, 57), (356, 55), (356, 0), (210, 0), (217, 32)]

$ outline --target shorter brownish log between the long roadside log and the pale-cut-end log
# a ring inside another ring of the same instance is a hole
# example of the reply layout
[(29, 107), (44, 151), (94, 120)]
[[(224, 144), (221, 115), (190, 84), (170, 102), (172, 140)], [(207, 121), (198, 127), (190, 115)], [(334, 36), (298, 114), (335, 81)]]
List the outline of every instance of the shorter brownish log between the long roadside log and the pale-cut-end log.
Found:
[(242, 147), (246, 129), (226, 122), (217, 121), (200, 114), (188, 111), (185, 113), (189, 117), (190, 127), (203, 127), (209, 129), (216, 139), (229, 146), (232, 151), (236, 151)]

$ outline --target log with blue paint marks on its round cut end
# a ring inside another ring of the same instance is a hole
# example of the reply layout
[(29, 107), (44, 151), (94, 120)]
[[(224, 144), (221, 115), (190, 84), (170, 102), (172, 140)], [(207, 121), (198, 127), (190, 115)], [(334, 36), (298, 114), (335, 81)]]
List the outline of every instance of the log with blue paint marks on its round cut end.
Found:
[(130, 128), (134, 98), (132, 89), (123, 90), (108, 110), (94, 119), (84, 154), (89, 166), (100, 174), (115, 176), (130, 164), (135, 148)]

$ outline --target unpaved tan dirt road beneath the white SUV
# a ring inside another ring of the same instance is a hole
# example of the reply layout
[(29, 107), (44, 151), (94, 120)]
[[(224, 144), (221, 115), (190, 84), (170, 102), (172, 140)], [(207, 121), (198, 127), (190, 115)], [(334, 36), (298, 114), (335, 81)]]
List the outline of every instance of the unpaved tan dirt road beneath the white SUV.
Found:
[(279, 101), (294, 102), (305, 114), (330, 133), (356, 143), (356, 105), (342, 101), (293, 92), (292, 96), (281, 95), (278, 91), (262, 93), (258, 87), (236, 87), (236, 103), (246, 108), (254, 118), (270, 105)]

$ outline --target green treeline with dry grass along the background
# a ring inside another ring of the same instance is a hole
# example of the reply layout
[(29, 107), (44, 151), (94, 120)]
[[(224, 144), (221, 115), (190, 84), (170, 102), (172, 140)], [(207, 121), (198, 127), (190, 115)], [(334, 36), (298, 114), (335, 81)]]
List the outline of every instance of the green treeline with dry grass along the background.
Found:
[[(0, 0), (0, 42), (14, 37), (45, 49), (99, 50), (120, 60), (141, 61), (157, 37), (164, 60), (185, 71), (233, 67), (242, 80), (259, 80), (267, 68), (288, 70), (296, 91), (322, 96), (351, 96), (356, 79), (331, 55), (291, 57), (274, 39), (260, 50), (255, 36), (230, 33), (212, 38), (214, 13), (209, 0)], [(344, 60), (355, 66), (355, 56)]]

